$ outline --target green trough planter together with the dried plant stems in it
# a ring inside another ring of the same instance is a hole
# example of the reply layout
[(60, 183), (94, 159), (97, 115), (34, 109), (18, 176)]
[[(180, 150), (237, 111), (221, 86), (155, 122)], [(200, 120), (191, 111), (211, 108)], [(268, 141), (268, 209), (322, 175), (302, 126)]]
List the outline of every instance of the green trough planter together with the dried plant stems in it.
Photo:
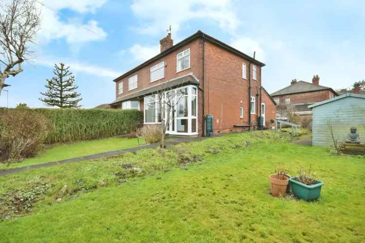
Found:
[(298, 176), (290, 178), (292, 193), (300, 199), (307, 201), (315, 200), (321, 195), (324, 183), (316, 179), (316, 172), (309, 170), (298, 170)]

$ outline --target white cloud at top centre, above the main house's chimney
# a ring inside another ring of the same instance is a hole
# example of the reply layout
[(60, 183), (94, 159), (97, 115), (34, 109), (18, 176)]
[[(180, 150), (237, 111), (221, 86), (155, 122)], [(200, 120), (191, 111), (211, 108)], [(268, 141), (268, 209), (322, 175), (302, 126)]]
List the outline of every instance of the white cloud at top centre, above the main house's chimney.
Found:
[(192, 19), (213, 20), (222, 30), (234, 33), (241, 21), (231, 0), (135, 0), (133, 14), (144, 21), (136, 30), (140, 34), (155, 35), (171, 24), (173, 34)]

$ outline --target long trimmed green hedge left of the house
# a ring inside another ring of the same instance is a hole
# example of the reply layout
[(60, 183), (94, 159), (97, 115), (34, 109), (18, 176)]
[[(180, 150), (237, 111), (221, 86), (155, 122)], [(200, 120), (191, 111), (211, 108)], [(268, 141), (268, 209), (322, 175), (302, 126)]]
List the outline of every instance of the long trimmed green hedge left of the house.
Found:
[[(0, 109), (2, 113), (3, 109)], [(141, 126), (142, 112), (121, 109), (36, 108), (51, 122), (46, 142), (101, 139), (135, 132)], [(1, 125), (0, 125), (1, 126)], [(1, 130), (1, 127), (0, 127)]]

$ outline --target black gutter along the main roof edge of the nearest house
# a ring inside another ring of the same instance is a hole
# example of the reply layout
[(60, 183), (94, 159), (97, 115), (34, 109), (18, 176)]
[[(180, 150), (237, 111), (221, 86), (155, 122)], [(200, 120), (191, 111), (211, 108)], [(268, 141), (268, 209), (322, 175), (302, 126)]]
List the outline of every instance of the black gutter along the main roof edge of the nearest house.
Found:
[(255, 58), (252, 58), (251, 56), (249, 56), (249, 55), (247, 55), (247, 54), (245, 54), (243, 52), (238, 51), (237, 49), (235, 49), (235, 48), (233, 48), (233, 47), (231, 47), (231, 46), (229, 46), (229, 45), (227, 45), (227, 44), (219, 41), (216, 38), (213, 38), (212, 36), (206, 35), (205, 33), (201, 32), (201, 31), (198, 31), (197, 33), (195, 33), (193, 35), (190, 35), (186, 39), (180, 41), (176, 45), (174, 45), (174, 46), (170, 47), (169, 49), (165, 50), (164, 52), (161, 52), (160, 54), (152, 57), (151, 59), (149, 59), (146, 62), (140, 64), (139, 66), (135, 67), (134, 69), (131, 69), (128, 72), (124, 73), (123, 75), (117, 77), (113, 81), (114, 82), (117, 82), (118, 80), (127, 77), (128, 75), (130, 75), (130, 74), (136, 72), (137, 70), (139, 70), (139, 69), (147, 66), (148, 64), (150, 64), (150, 63), (158, 60), (159, 58), (167, 55), (168, 53), (171, 53), (171, 52), (176, 51), (180, 47), (186, 45), (187, 43), (189, 43), (189, 42), (191, 42), (191, 41), (193, 41), (193, 40), (195, 40), (197, 38), (204, 38), (206, 41), (210, 41), (210, 42), (212, 42), (212, 43), (214, 43), (214, 44), (216, 44), (216, 45), (218, 45), (218, 46), (220, 46), (220, 47), (222, 47), (222, 48), (224, 48), (224, 49), (226, 49), (226, 50), (228, 50), (230, 52), (233, 52), (233, 53), (235, 53), (235, 54), (237, 54), (237, 55), (239, 55), (239, 56), (241, 56), (241, 57), (243, 57), (243, 58), (245, 58), (245, 59), (247, 59), (249, 61), (252, 61), (252, 62), (256, 63), (257, 65), (259, 65), (261, 67), (264, 67), (265, 66), (264, 63), (257, 61)]

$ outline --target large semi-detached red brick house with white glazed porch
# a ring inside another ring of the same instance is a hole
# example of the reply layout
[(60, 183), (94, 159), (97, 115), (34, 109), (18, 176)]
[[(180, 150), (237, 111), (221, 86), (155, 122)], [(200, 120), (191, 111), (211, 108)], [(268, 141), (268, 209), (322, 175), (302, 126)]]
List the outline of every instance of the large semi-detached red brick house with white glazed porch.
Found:
[(208, 114), (213, 115), (215, 134), (250, 129), (261, 113), (270, 125), (275, 103), (261, 86), (264, 63), (201, 31), (176, 45), (168, 34), (160, 45), (160, 54), (114, 79), (111, 108), (139, 109), (144, 124), (159, 123), (151, 94), (168, 83), (182, 97), (172, 111), (168, 134), (204, 136)]

